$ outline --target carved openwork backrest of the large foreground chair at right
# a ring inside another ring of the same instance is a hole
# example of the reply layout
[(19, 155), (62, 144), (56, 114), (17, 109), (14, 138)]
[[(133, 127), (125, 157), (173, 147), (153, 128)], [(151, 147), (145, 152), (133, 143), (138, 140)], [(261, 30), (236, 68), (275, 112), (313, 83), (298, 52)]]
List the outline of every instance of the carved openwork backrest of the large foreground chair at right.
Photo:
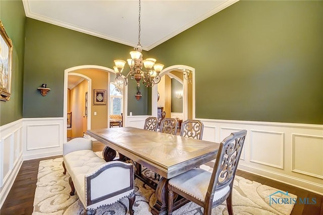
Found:
[(232, 189), (246, 134), (246, 130), (231, 133), (221, 142), (204, 202), (211, 205), (214, 192), (226, 186)]

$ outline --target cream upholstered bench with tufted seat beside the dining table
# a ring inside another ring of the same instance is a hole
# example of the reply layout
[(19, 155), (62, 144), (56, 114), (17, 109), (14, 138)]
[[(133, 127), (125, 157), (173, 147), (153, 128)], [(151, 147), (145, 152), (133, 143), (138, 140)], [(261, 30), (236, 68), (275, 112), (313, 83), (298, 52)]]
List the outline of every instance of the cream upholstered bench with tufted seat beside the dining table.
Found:
[(105, 162), (92, 151), (92, 141), (75, 138), (63, 145), (63, 167), (70, 174), (70, 195), (75, 191), (84, 205), (84, 214), (128, 197), (129, 211), (135, 201), (133, 165), (121, 161)]

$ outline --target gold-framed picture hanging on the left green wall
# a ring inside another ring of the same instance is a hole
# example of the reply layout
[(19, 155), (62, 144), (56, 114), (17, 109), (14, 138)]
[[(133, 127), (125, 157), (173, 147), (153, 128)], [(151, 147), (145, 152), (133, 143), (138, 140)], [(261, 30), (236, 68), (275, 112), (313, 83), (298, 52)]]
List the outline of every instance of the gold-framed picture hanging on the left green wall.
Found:
[(0, 100), (9, 101), (11, 96), (12, 41), (0, 20)]

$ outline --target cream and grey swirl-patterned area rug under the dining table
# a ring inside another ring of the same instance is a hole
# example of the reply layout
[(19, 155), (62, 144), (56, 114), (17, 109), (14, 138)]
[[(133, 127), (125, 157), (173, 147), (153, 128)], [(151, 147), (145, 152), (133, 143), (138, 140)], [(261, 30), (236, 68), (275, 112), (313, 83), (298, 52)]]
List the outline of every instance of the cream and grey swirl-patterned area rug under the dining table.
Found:
[[(38, 182), (34, 198), (34, 212), (32, 215), (80, 215), (83, 214), (84, 207), (77, 195), (70, 196), (71, 191), (68, 179), (69, 175), (63, 175), (63, 158), (42, 160), (39, 162)], [(202, 165), (201, 168), (212, 171), (212, 168)], [(268, 187), (260, 183), (249, 181), (236, 176), (233, 191), (233, 211), (234, 214), (264, 214), (264, 215), (288, 215), (293, 209), (293, 204), (272, 204), (270, 197), (279, 191), (276, 188)], [(280, 197), (282, 191), (275, 194)], [(150, 215), (151, 207), (156, 201), (155, 191), (142, 181), (135, 179), (136, 201), (133, 205), (135, 214)], [(272, 196), (273, 197), (273, 196)], [(289, 193), (289, 197), (296, 198)], [(97, 215), (123, 215), (129, 213), (128, 198), (121, 199), (110, 206), (99, 207)], [(203, 208), (197, 204), (189, 202), (181, 208), (173, 211), (174, 215), (203, 214)], [(228, 214), (226, 202), (212, 209), (212, 214)]]

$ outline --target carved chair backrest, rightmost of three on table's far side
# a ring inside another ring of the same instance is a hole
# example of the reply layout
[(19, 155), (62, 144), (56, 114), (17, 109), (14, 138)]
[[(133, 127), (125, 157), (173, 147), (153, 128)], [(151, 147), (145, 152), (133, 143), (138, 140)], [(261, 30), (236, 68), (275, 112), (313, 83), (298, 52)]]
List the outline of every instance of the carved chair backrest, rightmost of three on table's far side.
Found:
[(182, 137), (202, 140), (203, 128), (204, 128), (204, 124), (200, 120), (188, 119), (182, 122), (180, 135)]

